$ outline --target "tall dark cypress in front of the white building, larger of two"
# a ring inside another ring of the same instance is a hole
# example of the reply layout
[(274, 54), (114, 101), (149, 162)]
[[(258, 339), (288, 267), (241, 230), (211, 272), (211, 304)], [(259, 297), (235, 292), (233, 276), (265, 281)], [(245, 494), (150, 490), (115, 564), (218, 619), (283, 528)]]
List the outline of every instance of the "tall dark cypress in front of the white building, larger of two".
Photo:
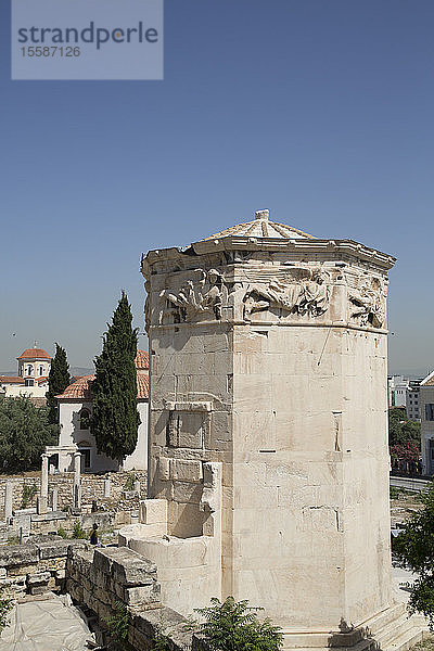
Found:
[(122, 462), (137, 445), (140, 418), (137, 410), (137, 330), (125, 292), (103, 336), (95, 358), (92, 383), (93, 409), (90, 429), (97, 447)]

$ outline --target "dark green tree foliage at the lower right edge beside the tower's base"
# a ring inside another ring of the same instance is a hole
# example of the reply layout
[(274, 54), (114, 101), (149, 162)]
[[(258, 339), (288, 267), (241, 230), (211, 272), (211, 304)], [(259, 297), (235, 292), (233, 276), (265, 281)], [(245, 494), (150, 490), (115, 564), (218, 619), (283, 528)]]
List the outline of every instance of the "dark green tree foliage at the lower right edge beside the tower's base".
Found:
[(423, 509), (412, 513), (405, 528), (393, 539), (399, 564), (419, 575), (409, 600), (411, 612), (421, 612), (434, 629), (434, 485), (422, 496)]

